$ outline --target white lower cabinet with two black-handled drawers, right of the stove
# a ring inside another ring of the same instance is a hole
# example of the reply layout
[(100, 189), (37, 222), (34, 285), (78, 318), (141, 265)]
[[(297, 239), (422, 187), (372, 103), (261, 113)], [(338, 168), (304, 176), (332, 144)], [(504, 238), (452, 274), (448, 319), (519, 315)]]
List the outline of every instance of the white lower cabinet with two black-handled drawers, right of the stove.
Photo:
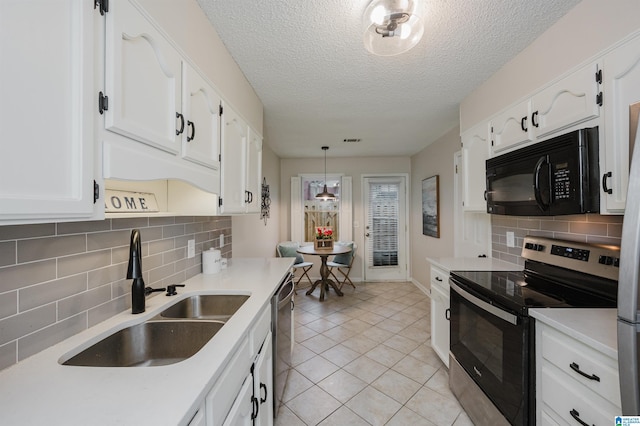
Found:
[(617, 360), (537, 321), (537, 424), (611, 424), (620, 413)]

